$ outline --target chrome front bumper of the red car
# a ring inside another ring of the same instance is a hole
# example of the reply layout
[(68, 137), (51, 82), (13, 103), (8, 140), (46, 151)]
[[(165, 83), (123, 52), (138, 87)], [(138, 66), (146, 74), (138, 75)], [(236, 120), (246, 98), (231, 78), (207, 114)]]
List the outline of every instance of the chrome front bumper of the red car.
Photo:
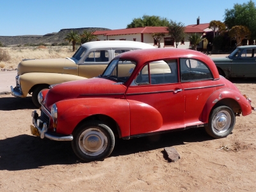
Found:
[(54, 140), (54, 141), (72, 141), (73, 140), (72, 135), (55, 136), (51, 134), (51, 132), (47, 132), (48, 131), (47, 124), (45, 122), (42, 122), (42, 120), (38, 118), (38, 113), (36, 113), (36, 110), (32, 111), (31, 116), (33, 117), (32, 123), (34, 127), (38, 130), (41, 139), (48, 138), (49, 140)]

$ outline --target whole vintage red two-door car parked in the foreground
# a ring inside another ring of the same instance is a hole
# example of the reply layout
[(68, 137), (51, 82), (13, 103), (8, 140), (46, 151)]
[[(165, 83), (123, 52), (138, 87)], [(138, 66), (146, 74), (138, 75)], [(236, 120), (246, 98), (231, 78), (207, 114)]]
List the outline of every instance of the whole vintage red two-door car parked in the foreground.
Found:
[(145, 49), (116, 56), (99, 77), (40, 92), (31, 133), (71, 141), (84, 161), (108, 157), (115, 139), (192, 127), (214, 138), (232, 132), (251, 100), (219, 76), (211, 58), (185, 49)]

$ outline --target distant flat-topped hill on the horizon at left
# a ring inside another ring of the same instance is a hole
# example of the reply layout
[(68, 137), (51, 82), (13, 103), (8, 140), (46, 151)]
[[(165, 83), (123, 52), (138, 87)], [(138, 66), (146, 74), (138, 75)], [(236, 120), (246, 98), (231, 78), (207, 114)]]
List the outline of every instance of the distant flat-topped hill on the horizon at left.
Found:
[(0, 42), (3, 45), (24, 45), (24, 44), (61, 44), (65, 36), (70, 31), (77, 31), (81, 34), (84, 30), (88, 31), (106, 31), (107, 28), (72, 28), (61, 29), (58, 33), (47, 33), (45, 35), (20, 35), (20, 36), (0, 36)]

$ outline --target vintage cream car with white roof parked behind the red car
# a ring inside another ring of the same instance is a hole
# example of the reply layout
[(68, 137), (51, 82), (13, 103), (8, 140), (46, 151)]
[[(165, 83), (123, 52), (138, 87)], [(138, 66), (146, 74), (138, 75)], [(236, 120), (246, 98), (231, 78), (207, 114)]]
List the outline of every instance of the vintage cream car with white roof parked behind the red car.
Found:
[(99, 76), (116, 55), (154, 46), (132, 41), (88, 42), (77, 49), (72, 58), (22, 60), (18, 65), (16, 86), (12, 95), (26, 97), (32, 94), (33, 103), (40, 107), (38, 93), (51, 84)]

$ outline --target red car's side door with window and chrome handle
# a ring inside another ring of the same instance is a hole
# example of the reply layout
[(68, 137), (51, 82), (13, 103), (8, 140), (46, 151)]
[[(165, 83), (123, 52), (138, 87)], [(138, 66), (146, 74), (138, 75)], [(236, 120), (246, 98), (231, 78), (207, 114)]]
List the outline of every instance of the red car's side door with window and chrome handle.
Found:
[(131, 136), (184, 127), (184, 90), (177, 60), (145, 65), (126, 92)]

